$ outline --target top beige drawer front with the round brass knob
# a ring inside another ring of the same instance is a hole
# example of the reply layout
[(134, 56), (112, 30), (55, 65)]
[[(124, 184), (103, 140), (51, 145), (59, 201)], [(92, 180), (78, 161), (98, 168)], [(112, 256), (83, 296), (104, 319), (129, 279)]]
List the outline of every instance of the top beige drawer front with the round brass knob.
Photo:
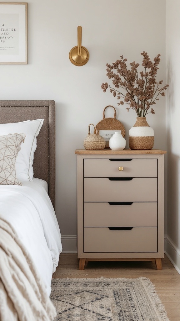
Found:
[[(121, 171), (120, 166), (123, 167)], [(84, 177), (157, 177), (157, 160), (86, 159), (84, 160)]]

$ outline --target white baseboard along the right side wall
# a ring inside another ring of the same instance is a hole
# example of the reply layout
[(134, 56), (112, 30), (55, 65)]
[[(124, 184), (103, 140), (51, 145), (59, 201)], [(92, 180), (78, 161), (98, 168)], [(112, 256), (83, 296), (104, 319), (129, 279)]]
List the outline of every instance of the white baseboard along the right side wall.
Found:
[(167, 235), (165, 241), (165, 251), (164, 253), (168, 256), (168, 259), (174, 265), (177, 272), (180, 274), (180, 250), (172, 239)]

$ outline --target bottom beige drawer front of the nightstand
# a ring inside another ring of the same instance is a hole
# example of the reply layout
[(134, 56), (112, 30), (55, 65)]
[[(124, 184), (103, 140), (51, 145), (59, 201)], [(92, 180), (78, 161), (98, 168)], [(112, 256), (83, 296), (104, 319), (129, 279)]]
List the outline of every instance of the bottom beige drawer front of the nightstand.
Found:
[(84, 252), (157, 252), (157, 228), (109, 230), (107, 227), (85, 227)]

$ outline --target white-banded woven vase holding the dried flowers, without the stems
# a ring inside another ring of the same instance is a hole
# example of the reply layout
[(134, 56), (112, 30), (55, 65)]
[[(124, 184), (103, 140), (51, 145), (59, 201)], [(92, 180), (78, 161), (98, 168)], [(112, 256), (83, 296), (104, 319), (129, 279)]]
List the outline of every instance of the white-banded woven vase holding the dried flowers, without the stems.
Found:
[(148, 125), (146, 117), (136, 117), (136, 123), (129, 130), (130, 149), (152, 149), (154, 130)]

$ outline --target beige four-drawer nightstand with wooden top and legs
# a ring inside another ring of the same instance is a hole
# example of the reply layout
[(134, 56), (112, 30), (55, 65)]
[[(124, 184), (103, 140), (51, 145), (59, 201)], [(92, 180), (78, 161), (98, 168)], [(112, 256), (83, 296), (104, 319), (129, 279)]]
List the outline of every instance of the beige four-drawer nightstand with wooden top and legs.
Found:
[(79, 269), (164, 257), (164, 153), (76, 150)]

